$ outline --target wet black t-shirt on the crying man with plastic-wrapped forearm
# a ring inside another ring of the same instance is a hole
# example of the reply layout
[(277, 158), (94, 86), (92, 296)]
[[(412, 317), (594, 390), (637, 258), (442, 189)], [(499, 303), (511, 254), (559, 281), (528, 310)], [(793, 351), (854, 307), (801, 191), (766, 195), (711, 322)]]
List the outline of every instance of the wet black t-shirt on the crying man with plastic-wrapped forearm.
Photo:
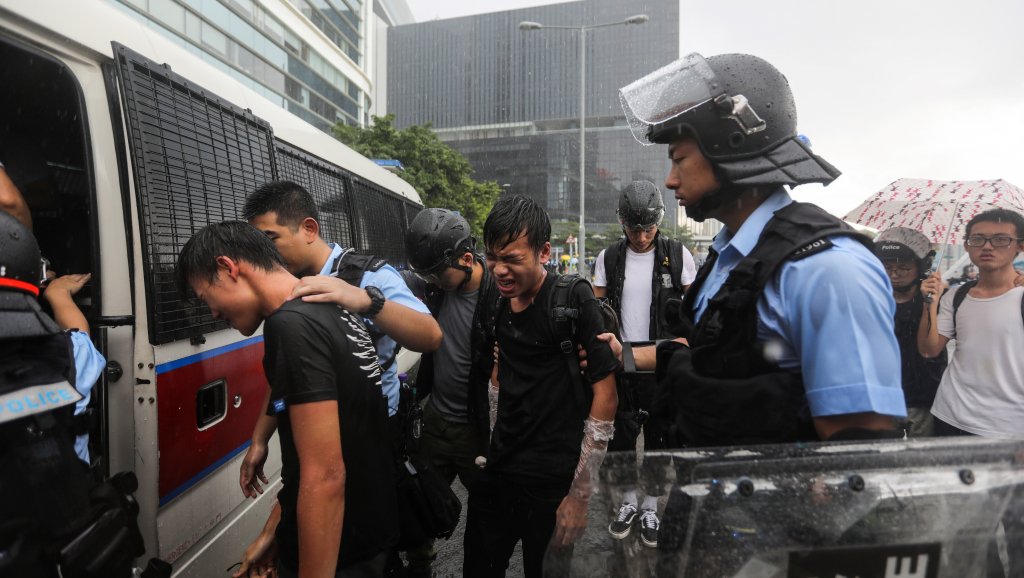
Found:
[[(520, 313), (509, 304), (496, 319), (501, 393), (498, 421), (490, 437), (488, 473), (524, 483), (565, 485), (580, 461), (583, 424), (593, 399), (573, 394), (568, 365), (551, 328), (549, 295), (556, 275), (548, 275), (534, 303)], [(618, 362), (597, 335), (604, 331), (598, 302), (589, 285), (575, 286), (581, 303), (577, 341), (587, 349), (584, 381), (596, 383)]]

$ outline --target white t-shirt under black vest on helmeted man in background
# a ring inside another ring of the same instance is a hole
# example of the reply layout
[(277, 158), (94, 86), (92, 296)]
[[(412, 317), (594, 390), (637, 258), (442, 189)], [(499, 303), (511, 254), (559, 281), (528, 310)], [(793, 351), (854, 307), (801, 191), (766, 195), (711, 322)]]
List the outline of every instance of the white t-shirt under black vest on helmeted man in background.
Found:
[[(646, 341), (650, 338), (650, 300), (651, 279), (654, 275), (654, 249), (646, 253), (637, 253), (626, 247), (626, 279), (623, 281), (622, 311), (618, 312), (622, 324), (622, 335), (626, 341)], [(689, 285), (696, 279), (697, 269), (693, 263), (693, 255), (683, 247), (683, 273), (680, 278), (682, 285)], [(594, 265), (594, 286), (607, 287), (607, 274), (604, 271), (604, 251), (597, 255)]]

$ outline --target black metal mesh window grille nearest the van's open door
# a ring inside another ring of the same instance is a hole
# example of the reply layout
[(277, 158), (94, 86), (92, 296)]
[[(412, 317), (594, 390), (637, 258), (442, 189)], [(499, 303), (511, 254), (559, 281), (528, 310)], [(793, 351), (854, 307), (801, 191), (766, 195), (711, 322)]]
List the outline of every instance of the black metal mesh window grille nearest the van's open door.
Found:
[(166, 343), (226, 328), (174, 285), (178, 252), (208, 223), (240, 218), (246, 196), (275, 178), (270, 126), (115, 44), (138, 197), (150, 338)]

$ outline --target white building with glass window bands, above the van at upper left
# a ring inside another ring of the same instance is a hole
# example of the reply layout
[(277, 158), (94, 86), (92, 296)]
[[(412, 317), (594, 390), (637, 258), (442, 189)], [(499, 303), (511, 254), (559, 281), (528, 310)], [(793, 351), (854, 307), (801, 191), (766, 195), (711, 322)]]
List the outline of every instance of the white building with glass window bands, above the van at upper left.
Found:
[(373, 0), (113, 0), (313, 126), (361, 125)]

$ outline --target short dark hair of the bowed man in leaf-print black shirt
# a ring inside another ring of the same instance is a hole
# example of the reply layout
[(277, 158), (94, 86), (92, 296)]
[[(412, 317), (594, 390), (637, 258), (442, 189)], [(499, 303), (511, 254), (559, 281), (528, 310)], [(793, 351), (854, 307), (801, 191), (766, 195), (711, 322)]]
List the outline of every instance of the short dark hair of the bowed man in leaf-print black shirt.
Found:
[(175, 282), (182, 296), (191, 293), (189, 281), (217, 279), (217, 257), (246, 261), (256, 269), (285, 269), (285, 259), (273, 241), (243, 220), (225, 220), (208, 224), (193, 235), (178, 254)]

